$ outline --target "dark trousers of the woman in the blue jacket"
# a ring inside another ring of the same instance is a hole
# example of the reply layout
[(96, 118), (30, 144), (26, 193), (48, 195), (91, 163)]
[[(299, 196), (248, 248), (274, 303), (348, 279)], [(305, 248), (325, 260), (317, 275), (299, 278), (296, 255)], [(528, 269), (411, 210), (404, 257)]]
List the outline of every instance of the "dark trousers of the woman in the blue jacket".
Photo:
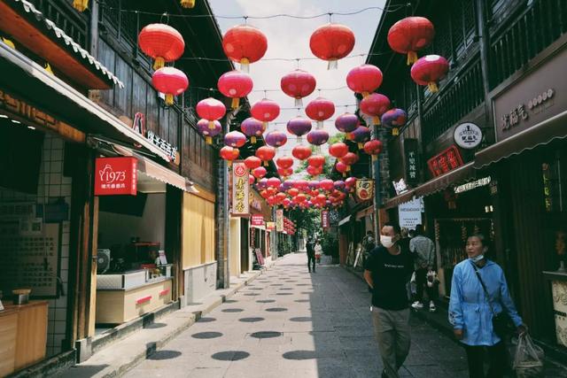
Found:
[[(470, 378), (501, 378), (508, 370), (508, 352), (504, 342), (493, 346), (465, 345)], [(488, 355), (488, 373), (485, 374), (485, 354)]]

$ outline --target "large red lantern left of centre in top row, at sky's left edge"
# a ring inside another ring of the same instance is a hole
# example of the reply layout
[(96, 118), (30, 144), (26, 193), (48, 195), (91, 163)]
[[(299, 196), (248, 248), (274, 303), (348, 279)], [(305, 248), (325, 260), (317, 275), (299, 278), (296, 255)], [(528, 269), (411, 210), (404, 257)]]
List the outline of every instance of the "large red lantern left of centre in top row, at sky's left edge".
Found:
[(268, 39), (256, 27), (238, 25), (230, 27), (222, 38), (222, 50), (230, 60), (240, 63), (248, 72), (249, 64), (260, 60), (268, 49)]

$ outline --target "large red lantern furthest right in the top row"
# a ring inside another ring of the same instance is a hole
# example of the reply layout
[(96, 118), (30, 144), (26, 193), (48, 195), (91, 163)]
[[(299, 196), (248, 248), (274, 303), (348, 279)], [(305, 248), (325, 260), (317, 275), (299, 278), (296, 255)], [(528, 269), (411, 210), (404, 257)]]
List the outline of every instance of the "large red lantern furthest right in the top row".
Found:
[(424, 17), (407, 17), (390, 27), (388, 44), (400, 54), (408, 54), (408, 66), (417, 61), (417, 50), (422, 50), (431, 43), (435, 28)]

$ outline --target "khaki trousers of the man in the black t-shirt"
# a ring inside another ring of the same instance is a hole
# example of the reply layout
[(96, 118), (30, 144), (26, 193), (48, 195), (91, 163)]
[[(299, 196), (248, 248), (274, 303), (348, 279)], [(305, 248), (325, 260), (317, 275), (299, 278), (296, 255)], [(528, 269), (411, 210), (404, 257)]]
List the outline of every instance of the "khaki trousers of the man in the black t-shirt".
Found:
[(411, 343), (409, 309), (393, 311), (372, 306), (372, 321), (386, 375), (399, 378), (398, 369), (408, 357)]

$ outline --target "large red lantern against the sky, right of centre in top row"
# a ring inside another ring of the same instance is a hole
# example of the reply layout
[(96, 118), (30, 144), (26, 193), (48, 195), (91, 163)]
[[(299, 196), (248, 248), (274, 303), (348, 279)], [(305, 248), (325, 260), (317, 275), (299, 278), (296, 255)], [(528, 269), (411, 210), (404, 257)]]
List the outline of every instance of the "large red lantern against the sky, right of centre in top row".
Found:
[(323, 25), (311, 35), (309, 48), (315, 57), (329, 61), (329, 68), (337, 68), (337, 60), (354, 48), (354, 33), (345, 25)]

